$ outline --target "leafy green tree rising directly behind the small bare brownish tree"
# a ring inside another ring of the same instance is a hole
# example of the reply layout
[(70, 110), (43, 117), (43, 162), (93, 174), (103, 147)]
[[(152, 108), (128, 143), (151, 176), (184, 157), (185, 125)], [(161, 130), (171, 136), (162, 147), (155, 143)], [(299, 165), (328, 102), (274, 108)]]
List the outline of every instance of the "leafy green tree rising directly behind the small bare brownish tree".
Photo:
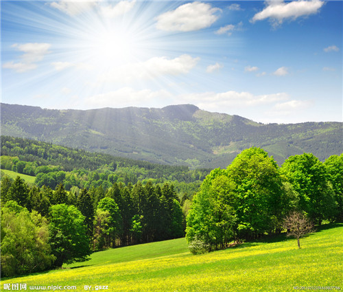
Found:
[(281, 167), (286, 181), (299, 194), (299, 209), (319, 225), (335, 216), (337, 209), (333, 191), (328, 183), (327, 170), (311, 153), (289, 157)]

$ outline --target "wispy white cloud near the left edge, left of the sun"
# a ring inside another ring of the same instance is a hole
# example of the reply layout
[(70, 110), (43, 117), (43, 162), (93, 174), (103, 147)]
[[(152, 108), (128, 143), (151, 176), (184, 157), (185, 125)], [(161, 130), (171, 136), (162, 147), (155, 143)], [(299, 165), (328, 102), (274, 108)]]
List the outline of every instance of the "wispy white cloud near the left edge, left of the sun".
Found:
[(2, 67), (23, 73), (25, 71), (36, 69), (36, 63), (43, 60), (46, 54), (49, 54), (49, 48), (51, 45), (49, 43), (15, 43), (11, 47), (14, 47), (17, 51), (24, 53), (19, 56), (19, 58), (21, 58), (21, 62), (15, 63), (14, 61), (10, 61), (4, 63)]

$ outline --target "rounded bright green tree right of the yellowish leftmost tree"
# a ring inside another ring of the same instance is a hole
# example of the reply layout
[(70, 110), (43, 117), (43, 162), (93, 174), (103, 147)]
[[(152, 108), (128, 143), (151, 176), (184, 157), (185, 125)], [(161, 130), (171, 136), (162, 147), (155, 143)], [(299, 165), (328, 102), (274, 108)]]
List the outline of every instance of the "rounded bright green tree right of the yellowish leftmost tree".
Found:
[(56, 267), (87, 259), (91, 251), (84, 216), (73, 205), (50, 207), (49, 243), (56, 256)]

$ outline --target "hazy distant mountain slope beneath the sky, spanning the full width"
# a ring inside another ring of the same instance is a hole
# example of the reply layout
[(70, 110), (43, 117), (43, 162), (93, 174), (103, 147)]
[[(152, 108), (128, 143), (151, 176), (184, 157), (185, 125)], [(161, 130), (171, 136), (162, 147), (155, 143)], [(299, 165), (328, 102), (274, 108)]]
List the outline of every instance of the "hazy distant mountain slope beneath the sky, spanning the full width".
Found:
[(226, 167), (257, 146), (279, 164), (290, 155), (324, 160), (343, 152), (342, 122), (261, 124), (182, 104), (163, 109), (51, 110), (1, 104), (1, 135), (27, 137), (162, 164)]

